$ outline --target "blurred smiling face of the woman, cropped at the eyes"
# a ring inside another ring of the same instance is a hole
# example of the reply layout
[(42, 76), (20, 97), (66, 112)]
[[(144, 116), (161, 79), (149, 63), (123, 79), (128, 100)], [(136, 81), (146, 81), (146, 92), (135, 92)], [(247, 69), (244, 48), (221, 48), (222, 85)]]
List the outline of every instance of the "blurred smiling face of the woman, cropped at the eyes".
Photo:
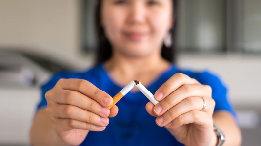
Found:
[(101, 25), (113, 51), (122, 55), (160, 54), (172, 22), (171, 0), (102, 0)]

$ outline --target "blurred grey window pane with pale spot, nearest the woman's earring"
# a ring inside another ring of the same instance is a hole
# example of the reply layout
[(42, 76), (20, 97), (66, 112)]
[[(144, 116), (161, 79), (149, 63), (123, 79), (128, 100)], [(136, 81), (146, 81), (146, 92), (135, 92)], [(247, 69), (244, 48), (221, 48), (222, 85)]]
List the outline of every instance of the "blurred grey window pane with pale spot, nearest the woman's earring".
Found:
[(225, 48), (225, 0), (179, 0), (177, 46), (182, 50)]

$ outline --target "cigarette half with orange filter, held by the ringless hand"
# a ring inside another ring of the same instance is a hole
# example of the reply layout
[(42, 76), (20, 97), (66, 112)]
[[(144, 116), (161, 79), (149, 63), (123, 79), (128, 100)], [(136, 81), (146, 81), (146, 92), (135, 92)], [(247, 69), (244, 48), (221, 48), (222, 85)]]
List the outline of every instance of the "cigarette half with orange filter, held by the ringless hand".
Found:
[(117, 93), (113, 97), (113, 104), (108, 109), (111, 109), (123, 96), (125, 96), (129, 91), (131, 91), (133, 89), (134, 85), (135, 85), (135, 82), (134, 82), (134, 80), (132, 80), (119, 93)]

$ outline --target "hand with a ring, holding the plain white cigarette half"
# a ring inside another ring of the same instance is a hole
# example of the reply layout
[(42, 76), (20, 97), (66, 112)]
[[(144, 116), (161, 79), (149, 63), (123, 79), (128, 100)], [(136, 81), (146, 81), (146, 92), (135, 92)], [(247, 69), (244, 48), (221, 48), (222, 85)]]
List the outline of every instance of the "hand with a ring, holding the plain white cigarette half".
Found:
[[(215, 101), (208, 85), (176, 73), (155, 93), (157, 105), (147, 103), (146, 110), (157, 116), (156, 124), (165, 128), (186, 146), (215, 146), (212, 114)], [(203, 97), (207, 102), (204, 110)]]

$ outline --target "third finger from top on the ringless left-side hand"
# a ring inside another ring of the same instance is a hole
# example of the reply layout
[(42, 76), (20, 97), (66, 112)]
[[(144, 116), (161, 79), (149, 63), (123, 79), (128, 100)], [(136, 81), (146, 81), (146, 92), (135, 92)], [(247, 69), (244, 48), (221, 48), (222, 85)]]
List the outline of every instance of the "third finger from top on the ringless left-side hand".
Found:
[(109, 119), (107, 117), (100, 117), (95, 113), (72, 105), (57, 104), (56, 106), (52, 106), (52, 108), (47, 107), (46, 110), (55, 111), (52, 112), (52, 116), (55, 118), (70, 118), (102, 127), (109, 124)]

